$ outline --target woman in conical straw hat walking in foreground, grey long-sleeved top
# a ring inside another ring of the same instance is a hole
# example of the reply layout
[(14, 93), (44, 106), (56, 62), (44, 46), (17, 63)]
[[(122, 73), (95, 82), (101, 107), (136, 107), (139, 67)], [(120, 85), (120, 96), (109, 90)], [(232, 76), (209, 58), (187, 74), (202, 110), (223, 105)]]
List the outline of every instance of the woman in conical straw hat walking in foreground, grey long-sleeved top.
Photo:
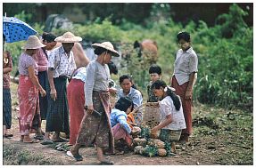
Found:
[[(95, 54), (98, 57), (87, 66), (85, 87), (87, 115), (83, 117), (80, 124), (76, 144), (67, 152), (67, 155), (81, 161), (83, 157), (78, 153), (81, 145), (95, 144), (98, 161), (101, 164), (113, 164), (111, 160), (103, 156), (104, 149), (109, 148), (113, 152), (114, 148), (110, 121), (110, 92), (115, 91), (108, 88), (111, 76), (107, 64), (111, 61), (111, 56), (119, 57), (120, 54), (114, 50), (110, 42), (92, 44), (92, 46), (95, 47)], [(100, 114), (96, 115), (95, 111)]]

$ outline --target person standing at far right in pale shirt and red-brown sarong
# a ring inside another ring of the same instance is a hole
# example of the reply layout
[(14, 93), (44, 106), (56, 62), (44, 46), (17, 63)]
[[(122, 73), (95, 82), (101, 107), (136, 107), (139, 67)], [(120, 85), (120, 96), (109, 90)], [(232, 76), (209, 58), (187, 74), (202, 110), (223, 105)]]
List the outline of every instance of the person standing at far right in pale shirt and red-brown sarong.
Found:
[(171, 86), (176, 89), (175, 93), (181, 98), (186, 121), (186, 129), (182, 131), (180, 142), (187, 142), (192, 133), (192, 95), (197, 76), (198, 59), (191, 47), (189, 33), (180, 32), (177, 39), (180, 49), (176, 54)]

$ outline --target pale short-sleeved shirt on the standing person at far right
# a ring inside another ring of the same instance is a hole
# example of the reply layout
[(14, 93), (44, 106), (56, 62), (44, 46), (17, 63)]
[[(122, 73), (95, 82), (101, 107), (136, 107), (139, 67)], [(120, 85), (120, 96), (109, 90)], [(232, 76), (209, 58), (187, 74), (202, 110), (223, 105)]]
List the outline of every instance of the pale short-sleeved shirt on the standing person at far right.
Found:
[(189, 76), (193, 72), (197, 72), (198, 59), (193, 48), (190, 47), (187, 51), (179, 49), (176, 53), (174, 62), (174, 76), (179, 85), (189, 81)]

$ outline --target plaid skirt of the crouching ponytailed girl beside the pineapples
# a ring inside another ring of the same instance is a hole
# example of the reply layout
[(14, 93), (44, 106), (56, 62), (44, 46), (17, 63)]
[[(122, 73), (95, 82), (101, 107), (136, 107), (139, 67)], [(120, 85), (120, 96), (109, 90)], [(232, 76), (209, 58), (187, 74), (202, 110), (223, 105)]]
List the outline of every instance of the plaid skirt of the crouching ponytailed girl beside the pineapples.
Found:
[(182, 130), (168, 130), (168, 129), (161, 129), (159, 139), (162, 141), (178, 141), (180, 138)]

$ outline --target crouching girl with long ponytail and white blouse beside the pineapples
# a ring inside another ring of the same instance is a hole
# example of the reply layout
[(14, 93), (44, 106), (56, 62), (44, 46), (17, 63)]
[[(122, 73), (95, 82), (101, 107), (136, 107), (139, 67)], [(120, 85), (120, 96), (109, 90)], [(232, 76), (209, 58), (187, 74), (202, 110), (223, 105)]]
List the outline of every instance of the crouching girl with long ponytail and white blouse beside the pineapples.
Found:
[(155, 137), (157, 131), (161, 130), (159, 139), (171, 143), (171, 150), (176, 153), (175, 142), (179, 140), (182, 129), (186, 128), (183, 108), (180, 97), (174, 92), (175, 89), (167, 86), (164, 81), (157, 80), (152, 84), (152, 90), (159, 101), (160, 124), (151, 130)]

